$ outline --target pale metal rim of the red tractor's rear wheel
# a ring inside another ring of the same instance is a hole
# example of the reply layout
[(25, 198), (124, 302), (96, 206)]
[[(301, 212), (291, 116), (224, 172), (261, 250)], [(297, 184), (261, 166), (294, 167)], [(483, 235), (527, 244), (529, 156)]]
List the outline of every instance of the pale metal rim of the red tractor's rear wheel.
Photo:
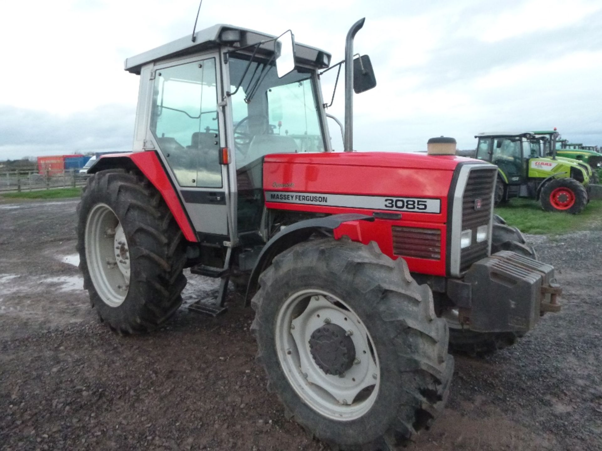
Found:
[(107, 204), (96, 204), (88, 213), (85, 259), (102, 301), (110, 307), (123, 304), (129, 289), (128, 241), (117, 215)]

